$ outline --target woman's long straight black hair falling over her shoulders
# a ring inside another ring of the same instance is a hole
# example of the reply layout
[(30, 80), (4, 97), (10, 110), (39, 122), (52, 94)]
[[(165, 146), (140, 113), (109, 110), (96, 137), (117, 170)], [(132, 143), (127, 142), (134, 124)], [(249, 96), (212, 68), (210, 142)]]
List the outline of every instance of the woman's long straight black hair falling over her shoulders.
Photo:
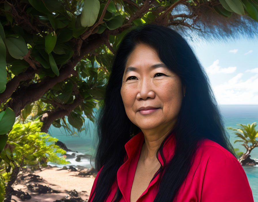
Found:
[[(176, 198), (177, 191), (191, 168), (191, 159), (198, 148), (199, 140), (207, 138), (215, 141), (237, 158), (229, 142), (229, 134), (225, 131), (208, 76), (187, 41), (171, 28), (143, 24), (124, 36), (113, 61), (104, 106), (100, 109), (97, 121), (95, 167), (99, 171), (104, 166), (99, 173), (92, 194), (95, 193), (95, 196), (91, 202), (105, 201), (116, 180), (117, 170), (124, 163), (125, 143), (141, 131), (127, 117), (120, 94), (126, 61), (139, 43), (153, 47), (160, 60), (179, 75), (183, 86), (186, 86), (177, 121), (158, 149), (164, 166), (159, 170), (159, 190), (154, 201), (173, 201)], [(175, 152), (173, 158), (165, 162), (162, 148), (172, 134), (176, 139)], [(158, 152), (156, 154), (158, 158)], [(122, 197), (119, 187), (116, 193), (114, 202)]]

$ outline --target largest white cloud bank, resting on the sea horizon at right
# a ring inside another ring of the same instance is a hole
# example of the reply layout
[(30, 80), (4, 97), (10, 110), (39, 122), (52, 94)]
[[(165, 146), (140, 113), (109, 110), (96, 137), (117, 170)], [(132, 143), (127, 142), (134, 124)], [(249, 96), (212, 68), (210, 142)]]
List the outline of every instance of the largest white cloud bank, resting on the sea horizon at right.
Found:
[(242, 79), (243, 75), (243, 73), (238, 73), (229, 81), (213, 88), (219, 104), (258, 103), (258, 73), (246, 80)]

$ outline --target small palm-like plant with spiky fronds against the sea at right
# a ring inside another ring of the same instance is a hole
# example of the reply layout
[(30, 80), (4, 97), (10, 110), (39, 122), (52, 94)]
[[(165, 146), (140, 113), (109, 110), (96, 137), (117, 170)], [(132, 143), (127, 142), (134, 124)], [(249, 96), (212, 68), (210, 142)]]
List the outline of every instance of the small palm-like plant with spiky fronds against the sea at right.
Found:
[[(254, 122), (251, 125), (247, 124), (237, 124), (240, 126), (239, 129), (234, 129), (232, 127), (227, 127), (227, 129), (231, 129), (236, 134), (236, 137), (239, 137), (240, 139), (237, 139), (234, 141), (236, 142), (243, 142), (243, 145), (246, 148), (246, 152), (242, 154), (242, 156), (239, 158), (239, 162), (242, 165), (243, 161), (246, 160), (248, 155), (250, 155), (251, 151), (258, 147), (258, 140), (256, 139), (258, 137), (258, 131), (255, 130), (255, 127), (257, 126), (257, 123)], [(251, 143), (251, 144), (250, 144)], [(250, 145), (248, 145), (250, 144)]]

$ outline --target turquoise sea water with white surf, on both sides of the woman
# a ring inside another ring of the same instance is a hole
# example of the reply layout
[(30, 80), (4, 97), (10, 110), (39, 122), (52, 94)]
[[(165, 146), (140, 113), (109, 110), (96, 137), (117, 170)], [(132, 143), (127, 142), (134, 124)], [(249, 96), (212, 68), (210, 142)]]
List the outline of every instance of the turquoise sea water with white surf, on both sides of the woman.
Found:
[[(239, 128), (237, 123), (239, 124), (248, 124), (257, 122), (258, 123), (258, 105), (220, 105), (221, 114), (223, 116), (223, 120), (225, 123), (225, 127), (233, 127)], [(87, 127), (87, 132), (85, 135), (81, 132), (77, 136), (69, 136), (65, 135), (63, 129), (55, 128), (51, 125), (49, 134), (52, 137), (56, 137), (60, 141), (66, 144), (66, 146), (73, 150), (77, 151), (78, 154), (88, 154), (89, 156), (92, 154), (94, 150), (94, 143), (96, 139), (94, 139), (94, 135), (96, 135), (96, 131), (94, 129), (94, 124), (90, 121), (86, 121), (85, 123)], [(258, 130), (258, 126), (256, 127)], [(241, 143), (234, 143), (236, 139), (236, 135), (233, 133), (234, 131), (227, 129), (230, 134), (229, 140), (234, 148), (239, 148), (240, 152), (245, 152), (245, 148), (240, 145)], [(73, 152), (69, 152), (67, 154), (71, 154)], [(252, 150), (251, 158), (258, 159), (258, 147)], [(81, 162), (75, 161), (75, 159), (69, 159), (73, 166), (85, 166), (91, 167), (90, 160), (86, 158), (81, 158)], [(50, 165), (52, 165), (50, 163)], [(94, 165), (94, 162), (92, 163)], [(62, 167), (62, 165), (58, 165)], [(246, 176), (248, 178), (250, 187), (253, 192), (254, 201), (258, 202), (258, 165), (256, 166), (243, 166)]]

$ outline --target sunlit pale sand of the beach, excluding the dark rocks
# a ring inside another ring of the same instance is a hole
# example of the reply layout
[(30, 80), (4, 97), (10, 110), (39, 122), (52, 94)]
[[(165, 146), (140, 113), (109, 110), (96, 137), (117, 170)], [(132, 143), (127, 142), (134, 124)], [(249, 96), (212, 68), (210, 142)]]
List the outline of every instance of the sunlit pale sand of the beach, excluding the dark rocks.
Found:
[[(60, 169), (61, 168), (56, 166), (48, 166), (47, 168), (42, 168), (42, 171), (36, 170), (34, 172), (29, 169), (23, 169), (19, 172), (18, 178), (12, 187), (14, 190), (21, 190), (25, 193), (29, 193), (31, 199), (26, 200), (28, 202), (53, 202), (65, 198), (72, 190), (76, 190), (78, 197), (81, 197), (81, 199), (88, 199), (96, 174), (81, 176), (78, 175), (80, 171), (87, 172), (89, 170), (77, 169), (78, 171), (71, 171), (71, 169)], [(37, 176), (28, 176), (29, 174)], [(32, 192), (28, 189), (27, 185), (29, 184), (41, 184), (50, 187), (52, 190), (47, 193), (36, 193), (33, 190)], [(15, 199), (17, 202), (22, 202), (22, 200), (16, 196), (12, 196), (12, 199)]]

